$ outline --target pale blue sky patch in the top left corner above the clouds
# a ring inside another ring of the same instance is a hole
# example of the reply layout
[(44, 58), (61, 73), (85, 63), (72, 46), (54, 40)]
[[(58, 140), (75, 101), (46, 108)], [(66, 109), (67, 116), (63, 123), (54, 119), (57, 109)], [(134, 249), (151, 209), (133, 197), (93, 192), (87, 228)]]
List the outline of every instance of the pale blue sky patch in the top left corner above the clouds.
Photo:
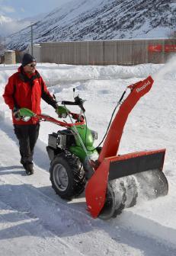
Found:
[(0, 15), (21, 19), (52, 11), (71, 0), (0, 0)]

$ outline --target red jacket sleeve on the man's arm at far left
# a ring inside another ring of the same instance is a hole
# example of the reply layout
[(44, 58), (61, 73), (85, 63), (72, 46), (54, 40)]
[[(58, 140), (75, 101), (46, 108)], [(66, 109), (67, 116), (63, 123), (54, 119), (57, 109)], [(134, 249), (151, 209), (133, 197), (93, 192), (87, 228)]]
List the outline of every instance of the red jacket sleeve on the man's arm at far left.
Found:
[(12, 110), (14, 108), (14, 76), (8, 78), (8, 84), (5, 85), (5, 92), (2, 95), (5, 99), (5, 103)]

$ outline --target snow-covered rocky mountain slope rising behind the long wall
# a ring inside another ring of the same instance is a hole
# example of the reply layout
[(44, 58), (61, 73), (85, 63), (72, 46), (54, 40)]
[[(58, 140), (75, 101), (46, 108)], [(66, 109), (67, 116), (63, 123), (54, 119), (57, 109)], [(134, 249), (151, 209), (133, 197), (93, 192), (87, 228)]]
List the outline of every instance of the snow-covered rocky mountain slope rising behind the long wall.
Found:
[[(34, 43), (168, 37), (175, 26), (175, 0), (74, 0), (36, 23)], [(9, 49), (24, 49), (30, 27), (8, 42)]]

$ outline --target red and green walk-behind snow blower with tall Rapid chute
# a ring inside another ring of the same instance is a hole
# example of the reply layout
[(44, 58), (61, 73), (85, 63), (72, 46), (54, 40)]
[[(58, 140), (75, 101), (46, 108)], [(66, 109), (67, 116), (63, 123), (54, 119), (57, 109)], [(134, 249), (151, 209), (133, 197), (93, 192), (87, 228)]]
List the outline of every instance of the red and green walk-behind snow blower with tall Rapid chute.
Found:
[[(50, 181), (59, 197), (72, 200), (85, 190), (91, 216), (110, 219), (125, 207), (134, 206), (140, 191), (149, 199), (168, 194), (168, 181), (162, 171), (165, 149), (117, 154), (127, 117), (152, 84), (149, 76), (126, 88), (129, 93), (123, 99), (124, 91), (117, 102), (114, 113), (117, 107), (118, 111), (114, 120), (112, 114), (102, 147), (94, 147), (97, 133), (85, 122), (84, 101), (79, 96), (59, 106), (59, 117), (68, 116), (70, 123), (21, 108), (21, 117), (35, 117), (65, 128), (49, 134), (46, 146), (51, 161)], [(72, 113), (68, 105), (78, 105), (80, 113)]]

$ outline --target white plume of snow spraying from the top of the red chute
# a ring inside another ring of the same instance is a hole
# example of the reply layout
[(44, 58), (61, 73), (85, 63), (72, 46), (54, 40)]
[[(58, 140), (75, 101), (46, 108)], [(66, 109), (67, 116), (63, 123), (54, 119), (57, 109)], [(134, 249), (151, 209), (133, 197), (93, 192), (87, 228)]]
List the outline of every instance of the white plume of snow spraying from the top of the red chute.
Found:
[(168, 72), (176, 72), (176, 56), (172, 56), (168, 62), (162, 66), (162, 69), (159, 69), (155, 74), (152, 75), (154, 81), (165, 79), (165, 75)]

